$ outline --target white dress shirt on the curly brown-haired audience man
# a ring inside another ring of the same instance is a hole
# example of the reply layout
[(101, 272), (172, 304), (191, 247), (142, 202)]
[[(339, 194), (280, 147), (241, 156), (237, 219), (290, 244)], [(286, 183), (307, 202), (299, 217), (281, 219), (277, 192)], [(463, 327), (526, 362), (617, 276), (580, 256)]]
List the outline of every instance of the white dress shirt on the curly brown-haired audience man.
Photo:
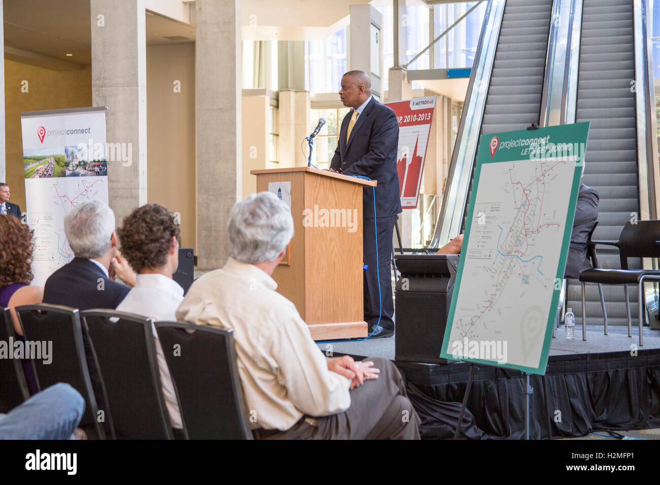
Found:
[[(176, 309), (182, 301), (183, 288), (171, 278), (158, 274), (137, 275), (135, 287), (131, 288), (126, 298), (117, 307), (117, 311), (143, 315), (154, 321), (175, 321)], [(183, 428), (181, 413), (176, 393), (174, 393), (170, 370), (167, 367), (160, 340), (158, 340), (156, 327), (152, 326), (152, 330), (156, 339), (156, 359), (158, 360), (158, 370), (160, 370), (160, 383), (163, 387), (165, 404), (170, 413), (170, 422), (172, 422), (172, 428), (181, 429)]]

